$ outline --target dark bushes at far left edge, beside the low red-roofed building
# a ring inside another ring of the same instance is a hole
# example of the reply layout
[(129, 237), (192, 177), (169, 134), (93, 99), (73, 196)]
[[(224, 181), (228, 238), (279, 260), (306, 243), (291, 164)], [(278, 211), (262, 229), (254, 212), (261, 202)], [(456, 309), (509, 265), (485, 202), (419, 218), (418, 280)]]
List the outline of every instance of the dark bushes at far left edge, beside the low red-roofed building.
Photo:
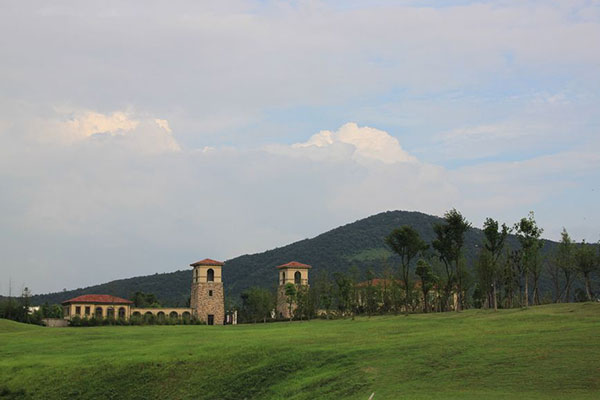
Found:
[(31, 307), (31, 292), (24, 288), (20, 297), (8, 296), (0, 300), (0, 318), (41, 325), (44, 318), (62, 318), (62, 307), (44, 303), (34, 309)]

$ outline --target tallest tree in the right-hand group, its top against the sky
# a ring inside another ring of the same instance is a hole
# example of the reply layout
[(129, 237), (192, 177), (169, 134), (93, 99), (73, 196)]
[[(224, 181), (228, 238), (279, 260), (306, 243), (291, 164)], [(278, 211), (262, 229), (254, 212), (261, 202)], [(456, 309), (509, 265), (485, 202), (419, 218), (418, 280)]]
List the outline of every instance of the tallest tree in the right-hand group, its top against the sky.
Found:
[(529, 212), (527, 218), (521, 218), (514, 226), (517, 238), (521, 244), (523, 256), (523, 273), (525, 276), (525, 307), (529, 305), (529, 274), (533, 277), (533, 301), (534, 304), (540, 304), (538, 282), (541, 273), (540, 249), (543, 242), (540, 236), (544, 230), (537, 226), (533, 211)]

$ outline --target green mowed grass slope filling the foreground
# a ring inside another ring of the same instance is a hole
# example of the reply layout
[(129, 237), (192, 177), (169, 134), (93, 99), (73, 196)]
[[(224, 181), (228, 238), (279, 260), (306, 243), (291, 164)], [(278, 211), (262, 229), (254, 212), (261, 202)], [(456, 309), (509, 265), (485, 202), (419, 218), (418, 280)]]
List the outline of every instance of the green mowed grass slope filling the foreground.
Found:
[(238, 326), (0, 320), (0, 397), (600, 398), (600, 304)]

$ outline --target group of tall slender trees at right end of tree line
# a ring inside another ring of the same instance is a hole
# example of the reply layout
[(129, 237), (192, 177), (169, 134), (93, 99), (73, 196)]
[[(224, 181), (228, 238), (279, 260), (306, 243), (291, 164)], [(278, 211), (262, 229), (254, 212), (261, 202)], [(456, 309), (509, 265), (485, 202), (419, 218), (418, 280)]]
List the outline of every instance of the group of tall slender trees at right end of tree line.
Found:
[[(563, 228), (561, 242), (543, 255), (544, 242), (540, 239), (543, 230), (537, 226), (532, 212), (512, 228), (519, 240), (519, 248), (504, 246), (509, 231), (503, 225), (499, 233), (497, 222), (491, 218), (486, 220), (486, 241), (475, 263), (477, 306), (510, 308), (548, 301), (594, 300), (592, 275), (600, 270), (600, 245), (588, 244), (585, 240), (576, 244)], [(547, 293), (547, 296), (542, 296), (539, 283), (544, 271), (553, 284), (553, 293)], [(585, 290), (577, 288), (572, 296), (577, 280), (581, 280)]]

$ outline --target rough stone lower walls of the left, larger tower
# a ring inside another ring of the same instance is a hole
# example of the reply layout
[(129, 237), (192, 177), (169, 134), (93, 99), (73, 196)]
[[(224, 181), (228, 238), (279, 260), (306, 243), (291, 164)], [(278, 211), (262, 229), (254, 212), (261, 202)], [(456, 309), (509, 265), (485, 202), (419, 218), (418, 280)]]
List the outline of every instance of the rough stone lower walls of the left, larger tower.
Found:
[[(212, 296), (210, 292), (212, 291)], [(192, 284), (190, 306), (194, 315), (208, 323), (208, 316), (214, 316), (215, 325), (223, 325), (225, 320), (225, 297), (223, 283), (200, 282)]]

